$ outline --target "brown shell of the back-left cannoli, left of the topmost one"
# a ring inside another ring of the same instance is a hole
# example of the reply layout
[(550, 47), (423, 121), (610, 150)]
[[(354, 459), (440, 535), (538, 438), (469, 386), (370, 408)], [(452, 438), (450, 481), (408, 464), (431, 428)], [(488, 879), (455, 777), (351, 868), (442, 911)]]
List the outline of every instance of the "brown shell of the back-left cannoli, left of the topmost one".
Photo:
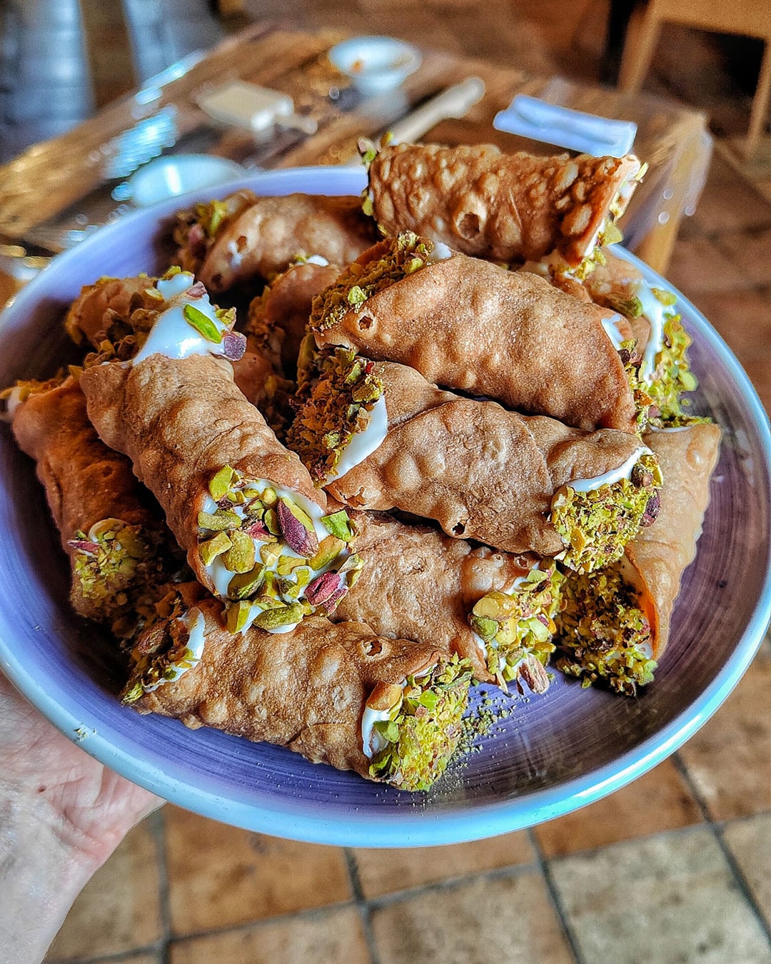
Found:
[(332, 263), (348, 264), (376, 235), (359, 198), (258, 198), (217, 232), (199, 279), (218, 293), (254, 277), (269, 279), (298, 254), (321, 254)]

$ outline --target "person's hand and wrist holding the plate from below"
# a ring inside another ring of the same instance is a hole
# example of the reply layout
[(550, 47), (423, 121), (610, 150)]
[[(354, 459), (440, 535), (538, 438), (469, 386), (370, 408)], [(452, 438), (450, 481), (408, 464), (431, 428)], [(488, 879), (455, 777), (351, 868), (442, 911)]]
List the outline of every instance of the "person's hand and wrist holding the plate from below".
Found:
[(71, 743), (0, 672), (0, 962), (40, 961), (93, 871), (162, 802)]

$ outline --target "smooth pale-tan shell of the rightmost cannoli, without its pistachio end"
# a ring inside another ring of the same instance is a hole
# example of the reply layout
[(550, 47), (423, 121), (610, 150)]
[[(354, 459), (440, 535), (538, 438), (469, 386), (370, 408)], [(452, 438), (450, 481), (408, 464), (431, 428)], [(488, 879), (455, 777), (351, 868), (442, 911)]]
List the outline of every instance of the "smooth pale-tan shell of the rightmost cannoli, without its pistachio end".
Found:
[(696, 556), (709, 501), (709, 476), (720, 454), (720, 437), (717, 425), (699, 423), (645, 435), (664, 476), (661, 508), (656, 521), (641, 529), (625, 551), (652, 601), (655, 659), (669, 640), (680, 578)]

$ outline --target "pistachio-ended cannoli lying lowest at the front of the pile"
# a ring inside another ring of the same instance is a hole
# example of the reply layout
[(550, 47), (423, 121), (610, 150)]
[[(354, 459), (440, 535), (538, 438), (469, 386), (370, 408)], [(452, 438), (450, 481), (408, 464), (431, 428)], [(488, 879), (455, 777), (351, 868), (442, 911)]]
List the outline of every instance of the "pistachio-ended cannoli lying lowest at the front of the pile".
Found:
[(312, 616), (233, 636), (209, 599), (140, 639), (124, 702), (428, 790), (461, 736), (470, 670), (437, 647)]

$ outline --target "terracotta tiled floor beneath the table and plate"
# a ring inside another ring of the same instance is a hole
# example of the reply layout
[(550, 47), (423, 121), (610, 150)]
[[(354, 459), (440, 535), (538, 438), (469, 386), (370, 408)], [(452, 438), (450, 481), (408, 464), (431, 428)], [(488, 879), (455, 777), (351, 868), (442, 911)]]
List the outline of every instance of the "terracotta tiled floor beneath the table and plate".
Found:
[[(601, 0), (527, 2), (517, 15), (492, 2), (484, 16), (478, 0), (280, 7), (298, 22), (381, 32), (419, 21), (427, 43), (584, 76), (597, 68), (605, 9)], [(711, 83), (700, 106), (716, 108), (722, 130), (741, 130), (749, 98), (715, 81), (723, 67), (708, 44), (683, 54), (680, 40), (693, 37), (667, 40), (651, 85), (688, 94), (702, 70)], [(678, 63), (691, 72), (679, 76)], [(769, 254), (771, 204), (716, 156), (669, 277), (771, 410)], [(578, 813), (492, 841), (345, 850), (166, 806), (96, 874), (49, 961), (771, 964), (769, 693), (767, 639), (730, 699), (672, 758)]]

